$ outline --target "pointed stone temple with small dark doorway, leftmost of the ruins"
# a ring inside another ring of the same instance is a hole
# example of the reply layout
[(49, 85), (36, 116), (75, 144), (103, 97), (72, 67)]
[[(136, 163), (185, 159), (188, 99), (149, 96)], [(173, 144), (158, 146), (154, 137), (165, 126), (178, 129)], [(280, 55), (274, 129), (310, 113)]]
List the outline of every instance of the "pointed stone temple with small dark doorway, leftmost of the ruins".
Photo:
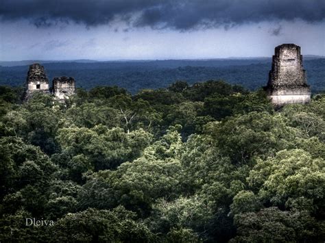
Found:
[(42, 65), (36, 63), (29, 66), (26, 86), (25, 100), (30, 99), (35, 92), (49, 94), (49, 80)]

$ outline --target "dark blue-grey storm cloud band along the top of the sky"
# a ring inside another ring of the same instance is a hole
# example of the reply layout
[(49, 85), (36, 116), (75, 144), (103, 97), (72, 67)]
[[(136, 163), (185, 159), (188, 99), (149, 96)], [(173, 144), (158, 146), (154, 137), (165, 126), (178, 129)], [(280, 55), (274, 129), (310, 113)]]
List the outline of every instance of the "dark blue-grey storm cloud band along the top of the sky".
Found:
[[(324, 0), (2, 0), (3, 21), (28, 19), (37, 27), (122, 21), (130, 27), (181, 31), (243, 23), (302, 19), (323, 21)], [(276, 33), (274, 33), (276, 34)]]

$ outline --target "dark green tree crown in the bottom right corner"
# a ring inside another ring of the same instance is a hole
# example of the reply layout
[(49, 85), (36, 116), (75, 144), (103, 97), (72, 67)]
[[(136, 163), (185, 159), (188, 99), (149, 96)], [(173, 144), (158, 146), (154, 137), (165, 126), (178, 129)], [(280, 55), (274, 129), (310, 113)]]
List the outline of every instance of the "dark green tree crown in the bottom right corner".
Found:
[(306, 212), (282, 212), (277, 207), (234, 217), (239, 236), (231, 242), (318, 242), (324, 225)]

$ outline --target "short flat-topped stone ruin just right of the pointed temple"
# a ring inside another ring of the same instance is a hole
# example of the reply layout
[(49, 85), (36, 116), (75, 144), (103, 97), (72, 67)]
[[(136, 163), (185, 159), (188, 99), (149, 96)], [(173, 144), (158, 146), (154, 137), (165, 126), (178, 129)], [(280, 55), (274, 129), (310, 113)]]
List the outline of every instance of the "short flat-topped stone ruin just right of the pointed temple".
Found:
[(55, 77), (53, 79), (53, 94), (60, 100), (69, 99), (75, 94), (75, 79), (72, 77)]

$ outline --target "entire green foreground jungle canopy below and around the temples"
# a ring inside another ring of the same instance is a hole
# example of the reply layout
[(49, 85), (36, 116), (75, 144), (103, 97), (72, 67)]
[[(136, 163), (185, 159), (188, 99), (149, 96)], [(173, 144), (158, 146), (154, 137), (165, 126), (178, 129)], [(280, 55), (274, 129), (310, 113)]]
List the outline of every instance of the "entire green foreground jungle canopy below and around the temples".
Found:
[(322, 94), (279, 110), (213, 80), (20, 94), (0, 87), (1, 242), (325, 240)]

